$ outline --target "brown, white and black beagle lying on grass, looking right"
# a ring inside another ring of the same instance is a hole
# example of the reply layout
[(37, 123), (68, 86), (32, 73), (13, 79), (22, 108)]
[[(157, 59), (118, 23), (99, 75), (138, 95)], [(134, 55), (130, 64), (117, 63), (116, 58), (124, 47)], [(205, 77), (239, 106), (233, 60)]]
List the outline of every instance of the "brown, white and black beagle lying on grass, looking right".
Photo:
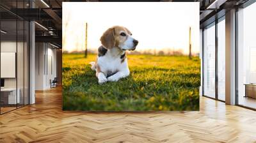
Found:
[(115, 82), (130, 74), (126, 50), (135, 50), (138, 40), (132, 38), (131, 32), (122, 26), (113, 26), (100, 37), (102, 45), (98, 49), (95, 62), (91, 62), (96, 71), (99, 84)]

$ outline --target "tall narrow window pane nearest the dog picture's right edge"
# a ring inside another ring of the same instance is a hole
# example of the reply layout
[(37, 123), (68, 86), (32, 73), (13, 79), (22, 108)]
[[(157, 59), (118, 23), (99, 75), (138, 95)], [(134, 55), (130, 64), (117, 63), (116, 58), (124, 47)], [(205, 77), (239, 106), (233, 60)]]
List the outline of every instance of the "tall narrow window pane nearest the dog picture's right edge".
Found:
[(215, 98), (215, 26), (204, 29), (204, 95)]

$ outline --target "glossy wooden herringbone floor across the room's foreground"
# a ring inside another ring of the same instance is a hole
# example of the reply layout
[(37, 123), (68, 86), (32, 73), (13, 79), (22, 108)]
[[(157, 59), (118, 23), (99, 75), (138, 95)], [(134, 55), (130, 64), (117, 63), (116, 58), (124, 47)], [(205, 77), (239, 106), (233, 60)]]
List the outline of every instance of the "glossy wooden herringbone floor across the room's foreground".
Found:
[(256, 142), (256, 112), (200, 98), (200, 112), (63, 112), (61, 88), (0, 116), (0, 142)]

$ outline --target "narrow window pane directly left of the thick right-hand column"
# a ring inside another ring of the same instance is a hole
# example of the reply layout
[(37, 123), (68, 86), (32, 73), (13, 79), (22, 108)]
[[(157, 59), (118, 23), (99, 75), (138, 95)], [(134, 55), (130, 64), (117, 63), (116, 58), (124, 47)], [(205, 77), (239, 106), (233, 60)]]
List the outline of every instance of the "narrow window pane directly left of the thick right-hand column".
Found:
[(218, 99), (225, 101), (225, 20), (218, 23)]

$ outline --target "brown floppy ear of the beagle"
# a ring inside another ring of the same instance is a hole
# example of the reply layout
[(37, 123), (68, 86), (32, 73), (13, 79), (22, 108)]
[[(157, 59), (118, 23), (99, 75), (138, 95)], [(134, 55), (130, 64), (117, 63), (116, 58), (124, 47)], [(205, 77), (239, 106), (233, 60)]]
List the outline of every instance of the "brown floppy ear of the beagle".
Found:
[(103, 35), (100, 37), (100, 41), (102, 45), (107, 48), (111, 49), (115, 46), (115, 29), (109, 28), (107, 31), (103, 33)]

